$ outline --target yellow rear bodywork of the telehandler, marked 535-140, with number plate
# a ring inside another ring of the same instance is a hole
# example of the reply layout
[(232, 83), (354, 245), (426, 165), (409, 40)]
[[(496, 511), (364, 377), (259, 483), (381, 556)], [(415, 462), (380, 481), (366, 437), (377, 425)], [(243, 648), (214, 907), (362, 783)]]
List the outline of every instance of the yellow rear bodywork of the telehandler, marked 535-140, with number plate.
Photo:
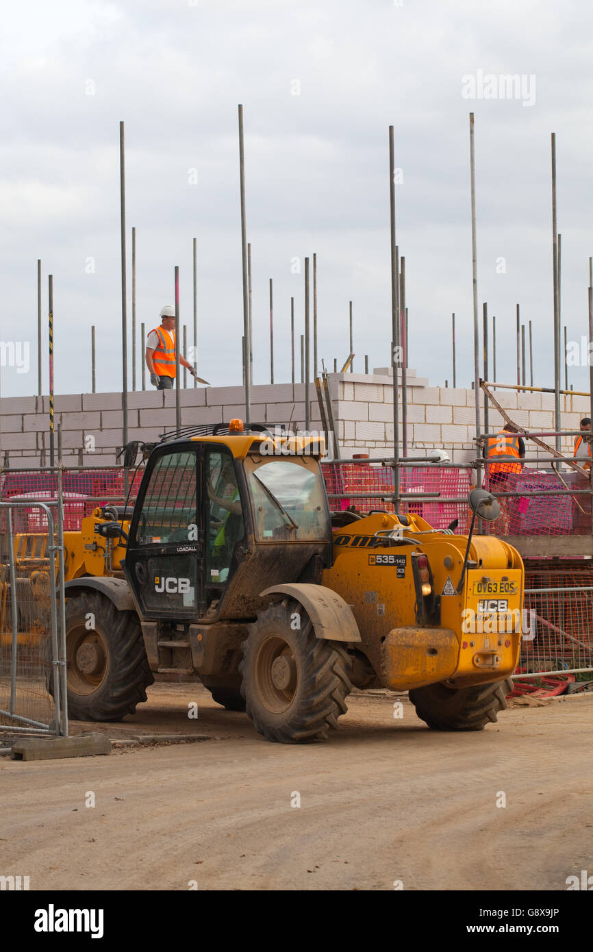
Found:
[[(431, 526), (419, 516), (408, 520), (404, 536), (413, 545), (376, 545), (377, 531), (401, 526), (387, 513), (336, 530), (334, 565), (326, 569), (322, 583), (352, 605), (362, 648), (381, 681), (407, 690), (452, 679), (463, 686), (507, 677), (517, 665), (521, 641), (524, 569), (519, 553), (499, 539), (474, 537), (465, 585), (458, 594), (466, 536), (430, 532)], [(436, 623), (418, 625), (413, 554), (428, 560), (432, 594), (440, 600)], [(500, 610), (499, 605), (484, 605), (495, 601), (501, 603)], [(506, 626), (507, 613), (512, 613), (514, 630), (493, 632), (503, 616)]]

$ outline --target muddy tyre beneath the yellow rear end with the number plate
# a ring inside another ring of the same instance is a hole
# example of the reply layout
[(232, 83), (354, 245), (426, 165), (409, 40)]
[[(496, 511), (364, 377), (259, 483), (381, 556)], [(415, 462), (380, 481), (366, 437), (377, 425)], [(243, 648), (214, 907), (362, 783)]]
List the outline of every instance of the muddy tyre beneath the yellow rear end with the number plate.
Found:
[(433, 730), (484, 730), (486, 724), (496, 724), (498, 712), (508, 707), (506, 694), (511, 690), (510, 681), (457, 688), (428, 684), (410, 691), (409, 699)]

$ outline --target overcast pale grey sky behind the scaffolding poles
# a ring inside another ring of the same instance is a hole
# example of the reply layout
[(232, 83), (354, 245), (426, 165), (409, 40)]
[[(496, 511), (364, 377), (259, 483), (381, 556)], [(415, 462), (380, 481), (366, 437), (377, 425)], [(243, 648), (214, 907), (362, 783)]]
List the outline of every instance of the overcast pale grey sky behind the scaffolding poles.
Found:
[[(37, 392), (37, 258), (44, 276), (44, 392), (48, 273), (55, 392), (90, 389), (93, 324), (97, 389), (122, 387), (120, 120), (129, 338), (131, 227), (138, 338), (140, 322), (155, 327), (160, 308), (172, 303), (179, 265), (181, 319), (191, 343), (195, 237), (198, 372), (214, 386), (241, 383), (238, 103), (245, 110), (255, 383), (269, 382), (270, 277), (275, 378), (290, 379), (290, 297), (300, 334), (304, 260), (313, 252), (320, 356), (330, 367), (334, 357), (346, 359), (352, 300), (355, 369), (363, 369), (366, 353), (371, 367), (388, 363), (393, 124), (403, 178), (396, 208), (409, 365), (431, 384), (448, 378), (451, 385), (455, 311), (458, 385), (469, 386), (473, 110), (480, 317), (487, 301), (497, 317), (497, 376), (516, 378), (519, 302), (522, 320), (533, 323), (535, 383), (553, 386), (550, 133), (557, 134), (562, 320), (568, 339), (580, 342), (593, 254), (591, 10), (583, 0), (54, 0), (6, 7), (0, 340), (30, 342), (31, 367), (0, 367), (2, 396)], [(467, 98), (468, 76), (478, 96), (481, 75), (506, 73), (524, 76), (519, 97)], [(301, 273), (293, 273), (295, 258)], [(139, 354), (140, 347), (138, 380)], [(586, 367), (570, 368), (575, 387), (587, 381)]]

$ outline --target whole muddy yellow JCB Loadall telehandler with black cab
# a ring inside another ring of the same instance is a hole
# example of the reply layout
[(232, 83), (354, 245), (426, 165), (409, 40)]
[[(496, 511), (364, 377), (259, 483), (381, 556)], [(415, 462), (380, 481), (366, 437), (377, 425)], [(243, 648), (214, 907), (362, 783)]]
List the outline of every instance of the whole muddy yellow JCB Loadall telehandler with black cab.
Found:
[(352, 686), (409, 690), (436, 729), (496, 721), (524, 586), (519, 553), (473, 535), (498, 504), (473, 490), (469, 536), (382, 511), (332, 527), (323, 453), (241, 421), (165, 434), (133, 510), (65, 533), (71, 717), (119, 720), (155, 672), (191, 672), (269, 741), (325, 738)]

